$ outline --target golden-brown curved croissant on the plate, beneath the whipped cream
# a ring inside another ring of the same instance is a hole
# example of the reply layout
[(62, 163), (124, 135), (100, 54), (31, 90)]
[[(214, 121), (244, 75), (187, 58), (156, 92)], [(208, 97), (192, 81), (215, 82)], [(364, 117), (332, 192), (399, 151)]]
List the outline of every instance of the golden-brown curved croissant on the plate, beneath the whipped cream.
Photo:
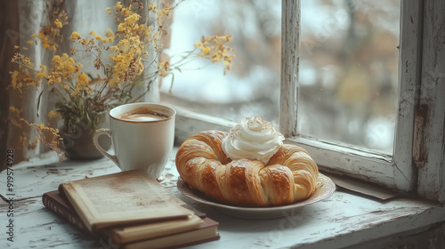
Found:
[(318, 167), (305, 149), (283, 144), (266, 165), (231, 160), (222, 149), (228, 133), (206, 131), (190, 136), (176, 153), (176, 168), (193, 189), (230, 205), (289, 205), (311, 197)]

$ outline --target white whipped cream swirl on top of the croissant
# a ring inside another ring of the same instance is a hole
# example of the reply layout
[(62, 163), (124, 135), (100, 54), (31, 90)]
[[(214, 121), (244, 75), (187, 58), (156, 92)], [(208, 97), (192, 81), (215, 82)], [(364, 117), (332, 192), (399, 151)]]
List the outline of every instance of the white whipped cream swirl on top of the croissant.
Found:
[(267, 164), (284, 140), (273, 124), (260, 116), (253, 116), (243, 118), (241, 124), (231, 128), (229, 135), (223, 139), (222, 147), (232, 160), (247, 158)]

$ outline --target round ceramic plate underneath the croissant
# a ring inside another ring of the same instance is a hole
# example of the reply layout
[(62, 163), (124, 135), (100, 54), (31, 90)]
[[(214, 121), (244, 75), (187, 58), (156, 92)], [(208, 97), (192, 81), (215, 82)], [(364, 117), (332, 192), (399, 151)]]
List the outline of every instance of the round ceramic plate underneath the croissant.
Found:
[(272, 207), (240, 207), (233, 205), (224, 205), (215, 202), (213, 199), (211, 199), (210, 197), (206, 197), (201, 192), (195, 189), (191, 189), (185, 181), (182, 181), (182, 179), (179, 179), (179, 181), (177, 182), (177, 187), (184, 196), (190, 197), (191, 199), (194, 199), (199, 203), (212, 205), (216, 207), (221, 213), (226, 213), (231, 216), (247, 219), (272, 219), (283, 217), (290, 214), (289, 212), (295, 212), (296, 210), (303, 208), (303, 206), (305, 205), (310, 205), (330, 197), (336, 190), (336, 184), (326, 175), (319, 173), (317, 189), (315, 189), (312, 197), (309, 197), (302, 202), (297, 202), (291, 205), (280, 205)]

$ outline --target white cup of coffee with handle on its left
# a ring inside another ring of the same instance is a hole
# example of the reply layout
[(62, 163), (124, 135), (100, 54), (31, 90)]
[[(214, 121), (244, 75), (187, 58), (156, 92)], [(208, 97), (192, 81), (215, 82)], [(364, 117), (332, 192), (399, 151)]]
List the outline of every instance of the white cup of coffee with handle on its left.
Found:
[[(109, 129), (94, 132), (94, 146), (122, 171), (139, 169), (160, 179), (173, 149), (175, 115), (174, 108), (158, 103), (131, 103), (112, 108)], [(102, 134), (111, 138), (114, 155), (101, 148), (98, 139)]]

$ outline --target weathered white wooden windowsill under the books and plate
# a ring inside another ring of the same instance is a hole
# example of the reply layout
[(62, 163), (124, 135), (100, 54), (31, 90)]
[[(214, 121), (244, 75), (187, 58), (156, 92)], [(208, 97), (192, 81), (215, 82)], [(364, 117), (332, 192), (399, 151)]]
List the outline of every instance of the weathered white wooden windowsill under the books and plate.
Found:
[[(53, 153), (48, 155), (13, 167), (14, 242), (7, 241), (5, 228), (5, 213), (10, 207), (1, 200), (0, 210), (4, 217), (0, 245), (6, 248), (103, 248), (100, 242), (84, 236), (46, 210), (41, 197), (44, 192), (57, 189), (63, 181), (116, 173), (119, 169), (106, 158), (60, 163)], [(239, 219), (182, 196), (175, 185), (178, 173), (174, 153), (165, 176), (162, 184), (167, 189), (220, 222), (220, 240), (193, 248), (343, 248), (399, 233), (414, 233), (445, 220), (444, 205), (408, 198), (379, 202), (338, 189), (328, 199), (282, 218)], [(6, 191), (6, 171), (0, 173), (0, 186), (3, 186), (0, 188), (2, 197), (11, 197)]]

